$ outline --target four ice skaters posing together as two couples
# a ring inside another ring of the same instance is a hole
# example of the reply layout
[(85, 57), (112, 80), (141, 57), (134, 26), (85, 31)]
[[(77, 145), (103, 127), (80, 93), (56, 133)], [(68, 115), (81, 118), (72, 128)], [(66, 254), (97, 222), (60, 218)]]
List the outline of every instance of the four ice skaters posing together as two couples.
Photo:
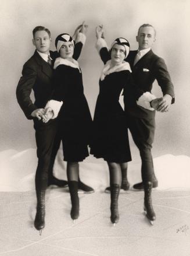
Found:
[[(74, 34), (76, 43), (69, 34), (60, 34), (56, 38), (57, 52), (49, 52), (49, 30), (36, 27), (33, 30), (33, 44), (37, 51), (24, 64), (17, 86), (20, 107), (28, 119), (34, 119), (38, 156), (35, 176), (37, 213), (34, 226), (40, 231), (45, 226), (46, 187), (53, 181), (57, 181), (60, 186), (67, 184), (66, 181), (57, 180), (52, 174), (60, 141), (63, 142), (64, 160), (67, 161), (71, 218), (75, 220), (79, 215), (78, 188), (93, 192), (92, 188), (81, 183), (78, 178), (78, 162), (88, 156), (87, 145), (90, 145), (91, 153), (105, 159), (109, 166), (110, 188), (107, 190), (111, 192), (110, 219), (112, 223), (118, 222), (120, 188), (128, 190), (130, 187), (127, 181), (127, 162), (131, 160), (127, 127), (142, 160), (143, 182), (135, 184), (134, 188), (145, 190), (144, 208), (148, 219), (155, 220), (151, 201), (152, 187), (157, 187), (151, 155), (155, 109), (168, 111), (170, 104), (174, 102), (173, 84), (166, 65), (150, 49), (155, 41), (156, 31), (149, 24), (139, 28), (138, 51), (130, 51), (130, 44), (122, 37), (114, 40), (109, 51), (103, 38), (103, 27), (96, 29), (96, 45), (105, 66), (99, 80), (100, 92), (92, 123), (83, 92), (81, 69), (75, 60), (83, 47), (86, 29), (84, 23), (78, 27)], [(151, 94), (155, 79), (164, 95), (160, 99)], [(30, 99), (32, 89), (35, 103)], [(124, 94), (125, 111), (119, 104), (121, 90)]]

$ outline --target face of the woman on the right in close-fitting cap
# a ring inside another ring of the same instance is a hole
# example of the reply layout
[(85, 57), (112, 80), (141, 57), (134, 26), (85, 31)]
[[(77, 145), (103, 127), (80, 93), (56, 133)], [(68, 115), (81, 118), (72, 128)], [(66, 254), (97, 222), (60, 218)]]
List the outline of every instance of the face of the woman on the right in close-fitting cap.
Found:
[(120, 44), (114, 44), (111, 50), (112, 64), (119, 65), (126, 58), (126, 48)]

